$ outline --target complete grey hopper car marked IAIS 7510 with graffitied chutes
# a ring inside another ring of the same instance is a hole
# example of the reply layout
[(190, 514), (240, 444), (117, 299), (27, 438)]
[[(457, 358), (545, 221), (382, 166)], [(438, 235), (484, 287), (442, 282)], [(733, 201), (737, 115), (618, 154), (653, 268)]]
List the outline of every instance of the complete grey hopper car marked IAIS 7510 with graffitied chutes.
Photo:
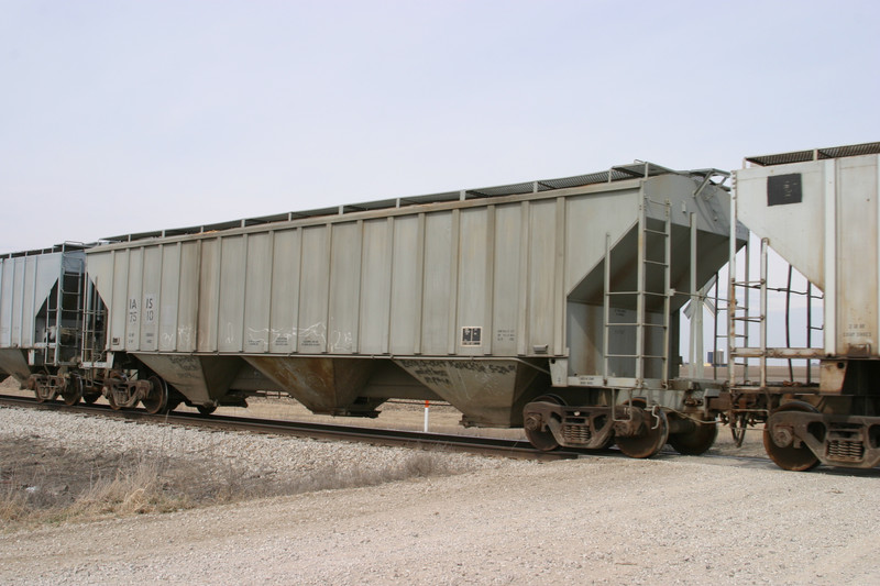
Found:
[[(211, 409), (268, 389), (375, 416), (389, 398), (441, 399), (465, 425), (527, 424), (544, 447), (559, 443), (551, 402), (582, 412), (562, 443), (593, 447), (688, 413), (629, 451), (651, 455), (667, 427), (685, 436), (694, 416), (711, 419), (694, 407), (705, 389), (670, 379), (678, 311), (727, 262), (719, 175), (639, 163), (112, 239), (88, 250), (103, 360), (121, 373), (134, 358), (169, 385), (153, 405), (170, 392)], [(150, 392), (114, 380), (119, 405)]]

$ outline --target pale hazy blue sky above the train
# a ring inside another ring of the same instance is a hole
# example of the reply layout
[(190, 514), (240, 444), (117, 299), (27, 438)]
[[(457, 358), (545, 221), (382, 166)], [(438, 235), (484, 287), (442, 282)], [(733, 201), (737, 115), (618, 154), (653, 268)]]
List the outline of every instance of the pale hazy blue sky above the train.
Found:
[(880, 2), (0, 0), (0, 253), (880, 140)]

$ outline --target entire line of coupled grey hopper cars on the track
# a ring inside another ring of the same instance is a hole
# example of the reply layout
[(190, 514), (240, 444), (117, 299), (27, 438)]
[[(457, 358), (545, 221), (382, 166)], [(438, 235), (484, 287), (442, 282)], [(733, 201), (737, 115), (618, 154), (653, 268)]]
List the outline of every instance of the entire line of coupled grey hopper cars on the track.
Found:
[[(266, 391), (334, 416), (443, 400), (542, 450), (632, 457), (762, 423), (783, 468), (873, 467), (878, 153), (750, 157), (733, 177), (636, 163), (3, 255), (0, 378), (150, 412)], [(768, 345), (771, 248), (822, 310), (803, 347)], [(683, 376), (681, 313), (702, 316), (710, 289), (728, 362), (701, 373), (693, 319)], [(779, 361), (805, 378), (774, 379)]]

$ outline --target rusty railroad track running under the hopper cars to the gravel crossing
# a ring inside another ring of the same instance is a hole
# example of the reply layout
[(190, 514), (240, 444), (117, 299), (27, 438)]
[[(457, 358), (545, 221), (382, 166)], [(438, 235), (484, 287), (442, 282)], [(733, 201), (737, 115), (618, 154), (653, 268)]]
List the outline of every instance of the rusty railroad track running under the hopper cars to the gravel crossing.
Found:
[(223, 431), (249, 431), (253, 433), (274, 433), (277, 435), (296, 435), (326, 440), (343, 440), (364, 442), (375, 445), (398, 445), (407, 447), (425, 447), (469, 452), (482, 455), (515, 457), (522, 460), (573, 460), (583, 454), (595, 452), (578, 450), (558, 450), (541, 452), (528, 442), (520, 440), (503, 440), (495, 438), (475, 438), (446, 433), (425, 433), (420, 431), (400, 431), (380, 428), (358, 428), (351, 425), (332, 425), (302, 421), (279, 421), (274, 419), (251, 419), (228, 416), (202, 416), (201, 413), (165, 413), (150, 414), (142, 409), (113, 410), (106, 405), (79, 403), (72, 407), (61, 401), (37, 402), (31, 397), (0, 395), (0, 405), (9, 407), (26, 407), (35, 409), (64, 410), (97, 417), (114, 417), (133, 421), (153, 423), (174, 423), (178, 425), (210, 428)]

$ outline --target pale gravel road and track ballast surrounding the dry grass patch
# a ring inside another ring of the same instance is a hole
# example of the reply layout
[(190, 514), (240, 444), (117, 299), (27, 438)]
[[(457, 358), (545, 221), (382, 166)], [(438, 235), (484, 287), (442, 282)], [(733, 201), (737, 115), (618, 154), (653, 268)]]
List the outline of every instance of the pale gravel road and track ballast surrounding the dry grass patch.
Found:
[(143, 449), (298, 494), (7, 528), (4, 584), (880, 583), (876, 469), (443, 453), (426, 474), (316, 490), (301, 478), (424, 453), (0, 408), (0, 441), (22, 439), (76, 454)]

